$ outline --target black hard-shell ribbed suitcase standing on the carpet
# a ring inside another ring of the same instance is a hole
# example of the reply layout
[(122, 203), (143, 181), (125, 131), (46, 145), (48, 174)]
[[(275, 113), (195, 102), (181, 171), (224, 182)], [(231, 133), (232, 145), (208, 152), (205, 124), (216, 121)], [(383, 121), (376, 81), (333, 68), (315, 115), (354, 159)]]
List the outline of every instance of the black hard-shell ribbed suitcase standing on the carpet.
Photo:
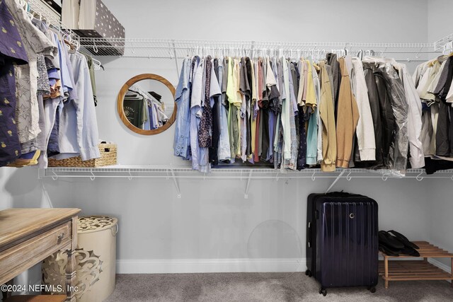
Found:
[(306, 214), (306, 267), (309, 277), (328, 287), (367, 286), (378, 279), (378, 206), (359, 194), (310, 194)]

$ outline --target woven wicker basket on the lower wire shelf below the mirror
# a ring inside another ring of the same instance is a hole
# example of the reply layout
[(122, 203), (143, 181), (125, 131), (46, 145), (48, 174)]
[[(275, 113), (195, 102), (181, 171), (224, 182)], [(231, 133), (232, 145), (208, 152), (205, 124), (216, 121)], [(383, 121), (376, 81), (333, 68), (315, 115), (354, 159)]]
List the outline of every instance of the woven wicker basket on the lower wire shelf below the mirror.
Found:
[(77, 168), (93, 168), (103, 165), (116, 165), (116, 144), (99, 144), (100, 158), (82, 161), (80, 156), (75, 156), (66, 159), (49, 158), (48, 167), (77, 167)]

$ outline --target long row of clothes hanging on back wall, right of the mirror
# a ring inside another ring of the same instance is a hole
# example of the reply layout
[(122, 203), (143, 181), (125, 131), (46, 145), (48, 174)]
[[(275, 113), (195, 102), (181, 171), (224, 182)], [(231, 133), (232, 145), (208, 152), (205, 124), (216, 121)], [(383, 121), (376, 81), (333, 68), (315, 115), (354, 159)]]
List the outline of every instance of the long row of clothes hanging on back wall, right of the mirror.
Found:
[(393, 59), (186, 58), (174, 155), (203, 172), (240, 159), (277, 169), (357, 165), (404, 175), (408, 160), (413, 168), (425, 164), (415, 92), (406, 66)]

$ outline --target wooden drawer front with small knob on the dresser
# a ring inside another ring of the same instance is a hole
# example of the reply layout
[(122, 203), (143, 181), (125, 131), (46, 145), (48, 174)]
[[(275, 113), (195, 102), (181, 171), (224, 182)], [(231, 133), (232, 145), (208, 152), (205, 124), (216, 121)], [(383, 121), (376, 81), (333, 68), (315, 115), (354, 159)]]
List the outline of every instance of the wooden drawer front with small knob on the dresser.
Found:
[(40, 233), (33, 238), (0, 252), (0, 277), (18, 266), (44, 260), (61, 248), (71, 248), (71, 221)]

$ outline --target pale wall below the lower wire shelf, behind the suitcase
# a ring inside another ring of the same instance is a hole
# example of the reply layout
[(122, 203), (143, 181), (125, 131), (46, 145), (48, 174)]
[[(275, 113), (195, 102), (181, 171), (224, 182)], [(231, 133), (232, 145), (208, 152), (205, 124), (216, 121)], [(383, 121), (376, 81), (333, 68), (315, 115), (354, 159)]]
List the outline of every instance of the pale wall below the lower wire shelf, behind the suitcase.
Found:
[[(11, 178), (11, 182), (18, 182), (25, 177), (29, 184), (25, 192), (8, 191), (16, 207), (45, 204), (44, 197), (35, 197), (34, 194), (40, 196), (40, 182), (35, 175), (28, 178), (29, 172), (17, 170)], [(79, 207), (83, 215), (118, 217), (120, 272), (205, 272), (260, 271), (269, 269), (269, 265), (277, 265), (276, 269), (304, 269), (295, 259), (305, 257), (306, 197), (311, 192), (324, 192), (332, 181), (252, 180), (248, 199), (243, 195), (246, 180), (240, 179), (181, 179), (180, 199), (173, 182), (165, 179), (46, 178), (43, 182), (54, 207)], [(426, 187), (431, 185), (432, 180), (428, 179), (343, 179), (333, 190), (376, 199), (380, 229), (396, 229), (417, 239), (430, 235), (426, 202), (430, 194)], [(11, 183), (6, 187), (12, 190)], [(244, 258), (258, 262), (253, 262), (252, 267), (248, 262), (234, 262)], [(269, 264), (263, 260), (269, 258), (282, 258), (289, 264), (278, 267), (278, 262)], [(149, 265), (150, 260), (153, 265)], [(168, 260), (179, 265), (162, 267), (161, 262)], [(225, 260), (233, 262), (225, 265)], [(185, 267), (194, 261), (202, 264)]]

